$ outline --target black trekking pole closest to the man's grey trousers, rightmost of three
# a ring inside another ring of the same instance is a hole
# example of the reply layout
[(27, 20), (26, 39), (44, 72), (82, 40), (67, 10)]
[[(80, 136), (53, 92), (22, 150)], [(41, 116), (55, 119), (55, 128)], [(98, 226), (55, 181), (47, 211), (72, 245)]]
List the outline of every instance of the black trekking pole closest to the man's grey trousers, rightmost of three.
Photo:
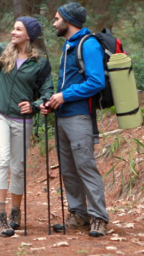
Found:
[(63, 234), (65, 235), (65, 222), (64, 222), (64, 205), (63, 205), (63, 186), (62, 186), (62, 171), (61, 171), (61, 156), (59, 149), (59, 136), (58, 136), (58, 123), (57, 123), (57, 111), (55, 110), (55, 124), (56, 124), (56, 140), (57, 140), (57, 156), (59, 164), (59, 182), (61, 189), (61, 203), (62, 203), (62, 217), (63, 217)]

